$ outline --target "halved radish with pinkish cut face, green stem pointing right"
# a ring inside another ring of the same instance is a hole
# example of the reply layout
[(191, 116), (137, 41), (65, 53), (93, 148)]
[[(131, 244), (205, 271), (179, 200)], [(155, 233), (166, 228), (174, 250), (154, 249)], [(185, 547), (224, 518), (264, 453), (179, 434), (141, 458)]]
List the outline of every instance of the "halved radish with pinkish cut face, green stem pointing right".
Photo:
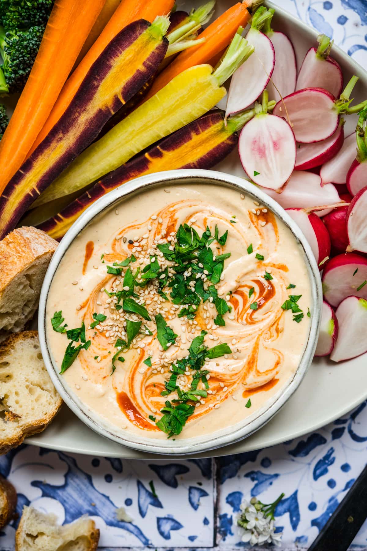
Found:
[(273, 114), (291, 123), (297, 142), (320, 142), (336, 131), (342, 113), (354, 113), (367, 103), (350, 107), (349, 96), (357, 82), (352, 77), (339, 99), (323, 88), (304, 88), (278, 101)]

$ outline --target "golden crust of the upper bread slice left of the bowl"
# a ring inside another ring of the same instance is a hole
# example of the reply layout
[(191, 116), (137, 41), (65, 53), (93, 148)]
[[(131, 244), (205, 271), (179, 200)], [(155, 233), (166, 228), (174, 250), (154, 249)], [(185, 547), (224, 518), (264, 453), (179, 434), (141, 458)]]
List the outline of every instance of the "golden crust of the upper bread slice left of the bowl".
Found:
[(44, 231), (23, 226), (0, 241), (0, 296), (12, 279), (36, 259), (56, 251), (58, 242)]

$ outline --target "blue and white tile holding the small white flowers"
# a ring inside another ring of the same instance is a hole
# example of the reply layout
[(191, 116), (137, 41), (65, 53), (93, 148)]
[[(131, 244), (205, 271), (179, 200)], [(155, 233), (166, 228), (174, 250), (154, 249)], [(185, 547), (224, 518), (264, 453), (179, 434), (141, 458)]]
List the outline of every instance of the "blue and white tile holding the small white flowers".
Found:
[[(367, 402), (315, 433), (269, 449), (219, 458), (220, 547), (238, 547), (239, 505), (256, 497), (276, 508), (284, 547), (308, 545), (346, 495), (366, 464)], [(355, 539), (367, 549), (367, 524)]]

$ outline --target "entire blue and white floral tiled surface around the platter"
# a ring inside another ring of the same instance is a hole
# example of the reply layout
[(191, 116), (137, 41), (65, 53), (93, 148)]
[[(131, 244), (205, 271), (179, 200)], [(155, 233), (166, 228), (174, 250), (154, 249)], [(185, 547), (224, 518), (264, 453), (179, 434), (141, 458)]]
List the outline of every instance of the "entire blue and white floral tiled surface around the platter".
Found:
[[(278, 0), (367, 66), (367, 0)], [(322, 407), (322, 404), (320, 404)], [(23, 505), (60, 523), (95, 519), (100, 547), (248, 548), (237, 526), (240, 504), (272, 503), (283, 551), (307, 549), (366, 463), (367, 402), (315, 433), (269, 449), (216, 460), (127, 461), (20, 446), (0, 457), (0, 473)], [(14, 550), (14, 520), (0, 531)], [(353, 542), (367, 549), (367, 522)], [(264, 549), (263, 547), (259, 549)]]

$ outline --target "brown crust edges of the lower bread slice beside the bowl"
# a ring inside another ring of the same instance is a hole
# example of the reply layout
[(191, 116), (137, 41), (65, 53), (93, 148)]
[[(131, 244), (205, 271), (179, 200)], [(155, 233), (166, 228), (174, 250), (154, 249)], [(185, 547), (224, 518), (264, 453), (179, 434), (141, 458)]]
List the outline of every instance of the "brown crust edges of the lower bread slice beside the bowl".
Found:
[[(21, 333), (14, 333), (7, 338), (6, 341), (0, 343), (0, 362), (1, 360), (9, 354), (9, 352), (21, 341), (28, 341), (29, 339), (36, 338), (38, 341), (38, 332), (37, 331), (23, 331)], [(52, 412), (45, 415), (41, 422), (35, 424), (28, 424), (23, 427), (23, 433), (14, 435), (13, 438), (8, 438), (7, 440), (0, 440), (0, 455), (7, 453), (9, 450), (12, 450), (14, 447), (20, 446), (23, 440), (37, 433), (41, 433), (42, 430), (45, 430), (46, 427), (51, 423), (52, 419), (59, 412), (63, 404), (62, 398), (59, 396), (58, 403), (55, 404)]]

